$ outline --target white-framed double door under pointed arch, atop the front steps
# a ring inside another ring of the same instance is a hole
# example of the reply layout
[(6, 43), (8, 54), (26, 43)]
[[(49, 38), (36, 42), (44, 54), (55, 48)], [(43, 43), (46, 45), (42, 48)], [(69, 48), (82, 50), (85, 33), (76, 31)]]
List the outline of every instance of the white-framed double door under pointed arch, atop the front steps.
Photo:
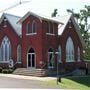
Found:
[(33, 48), (30, 48), (27, 55), (27, 65), (28, 67), (35, 68), (36, 54)]

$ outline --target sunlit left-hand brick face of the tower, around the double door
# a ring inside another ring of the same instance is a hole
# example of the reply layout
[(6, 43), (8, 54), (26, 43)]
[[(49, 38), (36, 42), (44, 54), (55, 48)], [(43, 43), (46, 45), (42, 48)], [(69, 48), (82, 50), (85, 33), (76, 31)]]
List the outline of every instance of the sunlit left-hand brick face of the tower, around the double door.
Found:
[[(37, 23), (37, 34), (35, 35), (26, 35), (26, 24), (30, 21), (35, 20)], [(41, 21), (30, 15), (23, 23), (22, 23), (22, 60), (23, 67), (27, 67), (27, 53), (30, 48), (34, 48), (36, 53), (36, 67), (40, 67), (40, 61), (42, 60), (42, 24)]]

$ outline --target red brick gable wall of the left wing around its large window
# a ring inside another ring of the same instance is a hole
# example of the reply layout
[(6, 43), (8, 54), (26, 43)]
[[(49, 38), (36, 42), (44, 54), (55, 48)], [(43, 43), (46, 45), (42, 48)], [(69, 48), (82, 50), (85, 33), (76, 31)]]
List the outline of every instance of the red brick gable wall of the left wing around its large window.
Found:
[[(7, 27), (3, 27), (4, 23), (2, 22), (0, 24), (0, 45), (2, 43), (2, 40), (5, 36), (7, 36), (11, 42), (11, 56), (14, 62), (17, 60), (17, 46), (21, 43), (20, 37), (16, 34), (12, 26), (6, 22)], [(4, 64), (0, 64), (1, 66), (4, 66)]]

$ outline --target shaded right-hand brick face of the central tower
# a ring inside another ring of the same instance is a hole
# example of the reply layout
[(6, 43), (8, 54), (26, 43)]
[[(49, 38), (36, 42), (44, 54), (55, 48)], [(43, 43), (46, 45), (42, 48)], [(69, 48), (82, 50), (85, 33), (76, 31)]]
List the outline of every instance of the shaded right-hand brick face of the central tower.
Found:
[[(48, 21), (43, 21), (43, 61), (46, 63), (46, 65), (48, 64), (48, 50), (50, 48), (53, 49), (53, 51), (55, 52), (55, 50), (58, 47), (58, 24), (54, 23), (54, 34), (55, 35), (47, 35), (47, 29), (45, 28), (47, 25)], [(55, 63), (56, 63), (56, 59)]]

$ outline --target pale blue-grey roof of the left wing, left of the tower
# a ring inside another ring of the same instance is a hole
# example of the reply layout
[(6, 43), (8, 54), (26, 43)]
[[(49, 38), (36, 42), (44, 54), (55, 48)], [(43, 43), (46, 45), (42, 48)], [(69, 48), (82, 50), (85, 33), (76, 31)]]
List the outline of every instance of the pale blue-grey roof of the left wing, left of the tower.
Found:
[(15, 32), (18, 35), (22, 34), (22, 32), (21, 32), (21, 25), (17, 24), (17, 21), (20, 20), (21, 17), (4, 13), (2, 15), (1, 19), (0, 19), (0, 23), (3, 21), (4, 18), (6, 18), (8, 20), (8, 22), (10, 23), (10, 25), (12, 26), (12, 28), (15, 30)]

